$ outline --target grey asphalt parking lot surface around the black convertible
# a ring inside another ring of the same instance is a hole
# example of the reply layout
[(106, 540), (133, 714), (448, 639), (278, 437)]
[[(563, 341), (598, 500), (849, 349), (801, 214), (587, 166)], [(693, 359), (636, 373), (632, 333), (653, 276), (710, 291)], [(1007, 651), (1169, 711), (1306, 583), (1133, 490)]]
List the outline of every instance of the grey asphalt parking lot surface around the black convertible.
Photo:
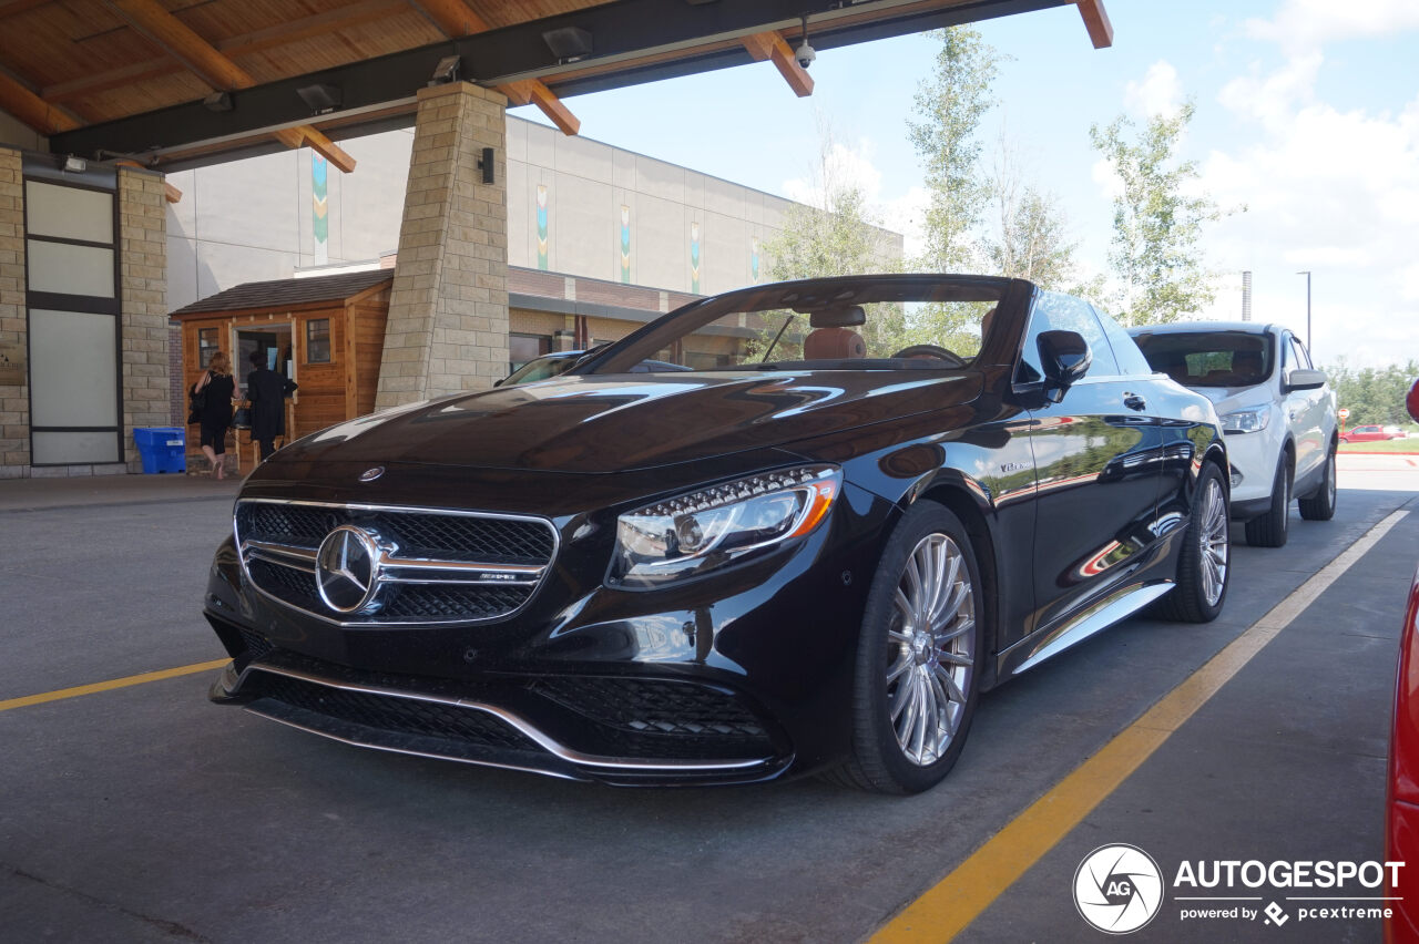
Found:
[[(1284, 549), (1235, 527), (1216, 622), (1131, 619), (986, 696), (955, 771), (911, 798), (614, 790), (213, 706), (199, 600), (233, 489), (136, 482), (0, 485), (4, 940), (1097, 941), (1070, 890), (1103, 843), (1165, 870), (1384, 856), (1410, 458), (1347, 456), (1335, 520), (1294, 517)], [(1379, 924), (1181, 921), (1169, 901), (1137, 937)]]

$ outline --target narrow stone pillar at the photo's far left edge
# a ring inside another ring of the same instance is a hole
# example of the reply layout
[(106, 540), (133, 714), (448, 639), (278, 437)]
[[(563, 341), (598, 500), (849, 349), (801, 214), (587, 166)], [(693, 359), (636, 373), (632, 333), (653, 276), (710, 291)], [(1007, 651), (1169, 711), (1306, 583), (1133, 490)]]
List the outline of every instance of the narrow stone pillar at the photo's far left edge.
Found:
[[(20, 152), (0, 147), (0, 343), (21, 354), (30, 323), (24, 310), (24, 177)], [(30, 466), (30, 386), (0, 383), (0, 478)]]

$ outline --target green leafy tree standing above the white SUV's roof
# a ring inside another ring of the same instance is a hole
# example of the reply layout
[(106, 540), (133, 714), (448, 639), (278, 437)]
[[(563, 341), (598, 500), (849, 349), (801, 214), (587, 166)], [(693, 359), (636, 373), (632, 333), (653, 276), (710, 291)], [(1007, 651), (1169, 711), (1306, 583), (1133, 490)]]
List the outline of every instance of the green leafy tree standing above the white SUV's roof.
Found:
[(1196, 191), (1196, 163), (1178, 157), (1178, 140), (1192, 115), (1188, 102), (1172, 118), (1149, 119), (1137, 136), (1135, 125), (1122, 115), (1108, 128), (1094, 125), (1088, 132), (1121, 184), (1108, 261), (1121, 283), (1117, 309), (1125, 325), (1175, 322), (1216, 296), (1202, 232), (1222, 213)]

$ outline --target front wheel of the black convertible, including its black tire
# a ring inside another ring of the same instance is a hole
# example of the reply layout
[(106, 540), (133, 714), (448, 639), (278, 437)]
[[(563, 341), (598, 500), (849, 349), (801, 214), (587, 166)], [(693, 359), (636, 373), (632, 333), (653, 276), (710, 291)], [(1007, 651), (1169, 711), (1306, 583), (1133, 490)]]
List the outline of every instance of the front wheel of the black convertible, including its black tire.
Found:
[(857, 644), (853, 753), (837, 780), (935, 787), (961, 755), (985, 666), (985, 591), (961, 520), (917, 502), (887, 541)]

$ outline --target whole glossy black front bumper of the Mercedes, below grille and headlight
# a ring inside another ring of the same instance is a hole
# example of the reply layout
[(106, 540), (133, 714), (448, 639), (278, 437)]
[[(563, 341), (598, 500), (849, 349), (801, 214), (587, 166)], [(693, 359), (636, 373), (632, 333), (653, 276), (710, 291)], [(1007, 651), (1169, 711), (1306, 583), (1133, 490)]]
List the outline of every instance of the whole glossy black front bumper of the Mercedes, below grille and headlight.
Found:
[[(823, 527), (680, 587), (602, 584), (576, 547), (514, 617), (349, 625), (258, 592), (228, 540), (206, 617), (220, 703), (325, 737), (607, 784), (725, 784), (846, 750), (857, 629), (895, 509), (851, 486)], [(597, 529), (604, 539), (612, 530)], [(582, 539), (595, 541), (596, 539)]]

